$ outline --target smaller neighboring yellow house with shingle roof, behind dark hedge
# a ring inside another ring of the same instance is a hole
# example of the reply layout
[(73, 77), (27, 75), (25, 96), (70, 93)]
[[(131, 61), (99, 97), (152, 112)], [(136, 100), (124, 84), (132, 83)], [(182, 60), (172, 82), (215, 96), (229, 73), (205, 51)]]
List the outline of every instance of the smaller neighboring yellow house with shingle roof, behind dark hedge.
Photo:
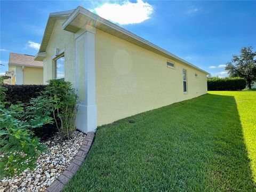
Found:
[(5, 81), (12, 85), (39, 85), (43, 84), (43, 62), (35, 61), (33, 55), (10, 53), (10, 79)]

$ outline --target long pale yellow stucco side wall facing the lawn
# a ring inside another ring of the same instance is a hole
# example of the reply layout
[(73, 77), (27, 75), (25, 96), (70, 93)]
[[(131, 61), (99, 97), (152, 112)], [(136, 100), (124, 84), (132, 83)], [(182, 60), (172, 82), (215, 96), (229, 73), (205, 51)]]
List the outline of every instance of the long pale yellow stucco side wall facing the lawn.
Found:
[[(98, 125), (207, 92), (206, 74), (201, 71), (177, 62), (175, 69), (168, 68), (161, 55), (101, 30), (95, 34), (95, 63)], [(188, 76), (186, 94), (182, 69)]]

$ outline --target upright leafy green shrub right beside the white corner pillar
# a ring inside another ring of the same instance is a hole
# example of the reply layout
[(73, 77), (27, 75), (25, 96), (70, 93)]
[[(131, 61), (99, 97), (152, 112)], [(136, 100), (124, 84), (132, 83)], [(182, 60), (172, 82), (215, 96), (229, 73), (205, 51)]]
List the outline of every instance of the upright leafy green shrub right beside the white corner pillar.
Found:
[(44, 103), (44, 107), (52, 112), (61, 138), (70, 139), (71, 133), (75, 130), (77, 112), (75, 89), (70, 82), (62, 79), (52, 79), (48, 83), (43, 94), (37, 98), (37, 102)]

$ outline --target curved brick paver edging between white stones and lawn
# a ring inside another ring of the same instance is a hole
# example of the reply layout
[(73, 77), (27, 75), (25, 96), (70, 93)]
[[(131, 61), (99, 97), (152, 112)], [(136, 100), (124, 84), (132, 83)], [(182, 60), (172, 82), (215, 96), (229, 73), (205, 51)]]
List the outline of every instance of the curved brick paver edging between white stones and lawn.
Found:
[(94, 132), (88, 132), (84, 139), (83, 145), (78, 150), (74, 159), (70, 162), (66, 170), (63, 171), (63, 173), (55, 181), (53, 181), (49, 187), (47, 187), (46, 192), (59, 192), (63, 189), (63, 187), (65, 187), (68, 181), (82, 165), (87, 153), (91, 148), (93, 138)]

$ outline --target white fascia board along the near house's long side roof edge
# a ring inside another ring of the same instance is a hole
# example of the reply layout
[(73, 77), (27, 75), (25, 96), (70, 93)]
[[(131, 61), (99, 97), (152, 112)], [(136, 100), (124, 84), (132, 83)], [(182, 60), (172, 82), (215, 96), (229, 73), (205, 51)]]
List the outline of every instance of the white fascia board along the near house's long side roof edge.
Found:
[[(115, 29), (115, 30), (123, 33), (124, 35), (130, 36), (130, 37), (134, 38), (135, 40), (140, 41), (143, 44), (146, 44), (146, 45), (148, 45), (150, 47), (153, 47), (154, 49), (156, 49), (158, 51), (161, 51), (161, 52), (169, 55), (172, 58), (175, 58), (175, 59), (177, 59), (179, 61), (182, 61), (183, 63), (186, 63), (188, 66), (196, 68), (199, 71), (202, 71), (203, 73), (205, 73), (207, 75), (210, 75), (207, 71), (205, 71), (205, 70), (203, 70), (203, 69), (201, 69), (201, 68), (191, 64), (190, 62), (188, 62), (188, 61), (186, 61), (186, 60), (184, 60), (182, 58), (179, 58), (178, 56), (170, 53), (169, 51), (166, 51), (166, 50), (162, 49), (161, 47), (159, 47), (159, 46), (157, 46), (157, 45), (155, 45), (153, 43), (150, 43), (146, 39), (143, 39), (143, 38), (139, 37), (138, 35), (135, 35), (135, 34), (131, 33), (130, 31), (128, 31), (128, 30), (126, 30), (126, 29), (124, 29), (122, 27), (119, 27), (118, 25), (116, 25), (116, 24), (114, 24), (114, 23), (112, 23), (112, 22), (110, 22), (110, 21), (108, 21), (106, 19), (103, 19), (103, 18), (99, 17), (98, 15), (96, 15), (96, 14), (94, 14), (94, 13), (92, 13), (92, 12), (86, 10), (86, 9), (84, 9), (84, 7), (81, 7), (81, 6), (78, 6), (77, 9), (73, 13), (70, 14), (69, 18), (62, 24), (62, 29), (65, 29), (76, 18), (76, 16), (79, 13), (84, 14), (86, 17), (89, 17), (89, 18), (91, 18), (91, 19), (93, 19), (93, 20), (95, 20), (97, 22), (102, 23), (103, 25), (105, 25), (107, 27)], [(87, 24), (87, 23), (84, 23), (84, 24)]]

